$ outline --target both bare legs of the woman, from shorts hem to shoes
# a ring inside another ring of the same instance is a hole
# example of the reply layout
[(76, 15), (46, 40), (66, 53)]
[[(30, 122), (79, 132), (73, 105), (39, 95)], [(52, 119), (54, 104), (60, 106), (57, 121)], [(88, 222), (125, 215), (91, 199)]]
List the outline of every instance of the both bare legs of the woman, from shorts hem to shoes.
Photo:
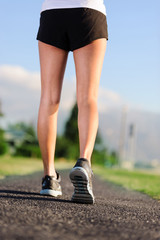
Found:
[[(57, 116), (68, 52), (39, 41), (41, 99), (37, 133), (42, 153), (44, 176), (56, 176), (54, 166)], [(76, 69), (79, 157), (91, 165), (98, 129), (97, 97), (106, 39), (101, 38), (73, 51)]]

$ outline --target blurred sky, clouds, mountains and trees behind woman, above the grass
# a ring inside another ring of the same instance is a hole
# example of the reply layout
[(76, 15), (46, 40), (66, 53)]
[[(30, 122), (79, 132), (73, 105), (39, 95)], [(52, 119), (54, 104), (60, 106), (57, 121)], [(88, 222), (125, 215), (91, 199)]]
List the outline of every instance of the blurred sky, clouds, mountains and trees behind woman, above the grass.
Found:
[[(0, 154), (41, 158), (36, 135), (43, 0), (0, 0)], [(99, 87), (93, 163), (160, 171), (160, 1), (105, 0), (109, 40)], [(78, 157), (72, 53), (58, 115), (56, 158)], [(72, 144), (71, 144), (72, 143)]]

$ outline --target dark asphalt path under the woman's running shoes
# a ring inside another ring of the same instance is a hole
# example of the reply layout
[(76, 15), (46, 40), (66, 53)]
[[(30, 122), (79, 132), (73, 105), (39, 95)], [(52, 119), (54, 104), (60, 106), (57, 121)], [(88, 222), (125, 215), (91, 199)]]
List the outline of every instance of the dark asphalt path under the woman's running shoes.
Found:
[(0, 181), (1, 240), (160, 240), (160, 202), (94, 177), (94, 205), (70, 201), (67, 171), (63, 197), (38, 194), (41, 174)]

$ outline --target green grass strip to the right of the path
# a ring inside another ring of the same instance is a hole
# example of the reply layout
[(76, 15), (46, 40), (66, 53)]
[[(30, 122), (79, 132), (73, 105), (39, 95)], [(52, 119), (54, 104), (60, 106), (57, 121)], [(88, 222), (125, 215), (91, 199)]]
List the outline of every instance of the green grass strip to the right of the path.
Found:
[(116, 183), (127, 189), (136, 190), (149, 196), (160, 199), (160, 175), (123, 169), (109, 169), (94, 166), (93, 171), (103, 180)]

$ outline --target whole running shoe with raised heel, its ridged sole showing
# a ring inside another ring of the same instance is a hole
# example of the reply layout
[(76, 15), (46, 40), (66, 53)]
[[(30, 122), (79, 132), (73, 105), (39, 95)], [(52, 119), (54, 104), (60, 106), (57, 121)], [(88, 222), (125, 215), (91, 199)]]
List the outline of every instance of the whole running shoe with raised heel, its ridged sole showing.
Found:
[(70, 172), (70, 179), (74, 185), (72, 201), (77, 203), (94, 203), (92, 192), (92, 169), (85, 158), (79, 158)]

